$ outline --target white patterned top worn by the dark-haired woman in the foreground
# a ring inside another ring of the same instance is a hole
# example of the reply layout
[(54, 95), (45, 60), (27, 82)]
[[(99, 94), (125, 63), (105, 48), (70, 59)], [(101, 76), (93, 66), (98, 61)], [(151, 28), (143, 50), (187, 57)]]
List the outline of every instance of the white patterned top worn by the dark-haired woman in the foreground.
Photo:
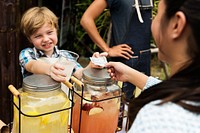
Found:
[[(152, 77), (149, 82), (151, 80), (158, 81)], [(172, 102), (156, 105), (160, 101), (146, 104), (138, 112), (128, 133), (200, 133), (200, 115)]]

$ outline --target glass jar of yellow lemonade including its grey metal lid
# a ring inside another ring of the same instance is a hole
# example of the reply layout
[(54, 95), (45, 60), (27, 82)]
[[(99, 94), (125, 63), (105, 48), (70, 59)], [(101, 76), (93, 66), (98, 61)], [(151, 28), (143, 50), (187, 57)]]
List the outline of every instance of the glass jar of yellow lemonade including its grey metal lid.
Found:
[[(12, 132), (67, 133), (70, 100), (60, 87), (60, 83), (47, 75), (31, 75), (24, 78), (23, 86), (19, 89), (20, 110), (23, 114), (19, 124), (19, 110), (14, 106)], [(19, 107), (19, 99), (15, 96), (14, 103)], [(59, 111), (61, 109), (66, 110)]]

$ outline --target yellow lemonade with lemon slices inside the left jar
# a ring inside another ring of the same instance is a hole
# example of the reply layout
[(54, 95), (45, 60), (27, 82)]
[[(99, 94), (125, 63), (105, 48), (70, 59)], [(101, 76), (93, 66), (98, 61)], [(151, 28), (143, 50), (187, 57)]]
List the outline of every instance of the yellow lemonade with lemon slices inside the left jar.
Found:
[[(40, 115), (70, 107), (70, 100), (60, 92), (51, 92), (54, 96), (46, 95), (44, 92), (37, 94), (37, 97), (23, 92), (21, 97), (21, 111), (26, 115)], [(18, 105), (18, 98), (14, 96), (14, 102)], [(38, 117), (28, 117), (21, 114), (19, 125), (19, 110), (14, 106), (14, 121), (12, 133), (67, 133), (68, 132), (69, 110), (51, 113)]]

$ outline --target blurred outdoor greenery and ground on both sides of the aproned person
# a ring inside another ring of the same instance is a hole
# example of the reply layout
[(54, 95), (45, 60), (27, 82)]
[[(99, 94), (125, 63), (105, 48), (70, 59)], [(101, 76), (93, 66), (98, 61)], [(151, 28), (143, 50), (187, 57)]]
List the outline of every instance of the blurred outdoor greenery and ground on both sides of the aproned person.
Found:
[[(61, 48), (63, 49), (69, 49), (74, 52), (77, 52), (80, 55), (79, 62), (85, 66), (88, 63), (88, 57), (92, 56), (93, 52), (101, 51), (97, 45), (93, 43), (93, 41), (90, 39), (88, 34), (85, 32), (85, 30), (80, 25), (80, 19), (83, 15), (84, 11), (87, 9), (87, 7), (91, 4), (93, 0), (84, 0), (79, 1), (76, 4), (76, 29), (75, 29), (75, 38), (73, 45), (63, 45)], [(158, 0), (154, 0), (154, 8), (152, 12), (152, 17), (154, 17), (157, 13), (157, 7), (158, 7)], [(153, 18), (152, 18), (153, 19)], [(103, 37), (105, 41), (109, 43), (109, 28), (110, 28), (110, 14), (109, 10), (106, 9), (97, 19), (96, 19), (96, 25), (99, 30), (99, 33)], [(154, 43), (153, 38), (151, 39), (151, 46), (152, 48), (156, 48), (156, 45)], [(152, 54), (152, 60), (151, 60), (151, 75), (155, 77), (159, 77), (160, 79), (165, 79), (166, 74), (168, 75), (168, 70), (165, 70), (166, 64), (160, 62), (157, 58), (157, 53)]]

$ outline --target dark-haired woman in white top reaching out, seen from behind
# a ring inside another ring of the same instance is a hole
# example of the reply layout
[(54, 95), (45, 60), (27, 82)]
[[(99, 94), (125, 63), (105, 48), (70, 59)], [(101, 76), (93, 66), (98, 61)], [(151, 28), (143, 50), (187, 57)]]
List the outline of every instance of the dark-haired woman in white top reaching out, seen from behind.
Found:
[(170, 65), (170, 78), (159, 81), (122, 63), (108, 72), (144, 88), (129, 103), (129, 133), (200, 132), (200, 1), (160, 0), (152, 22), (158, 58)]

